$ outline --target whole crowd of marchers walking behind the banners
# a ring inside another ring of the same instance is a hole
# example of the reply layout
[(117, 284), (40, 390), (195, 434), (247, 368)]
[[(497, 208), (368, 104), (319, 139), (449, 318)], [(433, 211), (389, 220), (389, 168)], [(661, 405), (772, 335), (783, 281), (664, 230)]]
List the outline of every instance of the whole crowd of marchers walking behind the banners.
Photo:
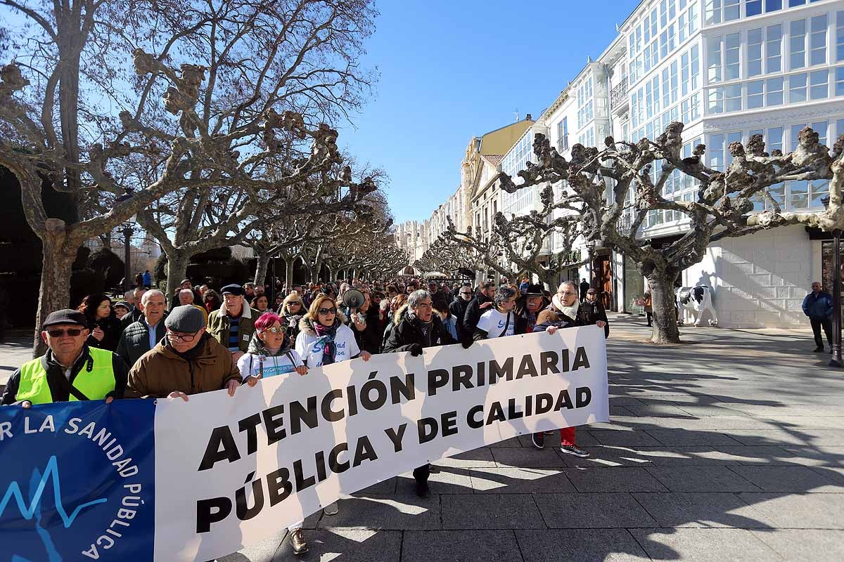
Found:
[[(358, 308), (344, 305), (351, 289), (363, 296)], [(142, 285), (120, 301), (95, 293), (77, 309), (47, 315), (41, 326), (46, 354), (13, 373), (0, 404), (187, 401), (224, 388), (234, 396), (264, 377), (308, 376), (310, 368), (358, 357), (369, 361), (373, 354), (399, 351), (419, 356), (436, 345), (469, 348), (477, 340), (589, 324), (609, 336), (595, 290), (571, 281), (551, 294), (527, 279), (475, 287), (415, 278), (290, 287), (246, 283), (219, 291), (194, 288), (185, 279), (170, 299)], [(534, 446), (543, 448), (544, 437), (534, 434)], [(560, 430), (560, 451), (589, 454), (576, 446), (573, 427)], [(414, 469), (420, 497), (430, 495), (430, 472), (430, 465)], [(324, 511), (336, 514), (337, 503)], [(301, 527), (289, 527), (295, 554), (308, 549)]]

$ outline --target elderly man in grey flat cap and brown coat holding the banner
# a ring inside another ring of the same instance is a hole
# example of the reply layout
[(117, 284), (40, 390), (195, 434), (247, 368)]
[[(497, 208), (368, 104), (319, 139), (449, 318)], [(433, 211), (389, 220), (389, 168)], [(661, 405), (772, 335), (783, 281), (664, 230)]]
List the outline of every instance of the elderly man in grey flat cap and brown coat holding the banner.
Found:
[[(241, 385), (231, 353), (205, 333), (203, 313), (192, 305), (173, 308), (165, 318), (164, 340), (129, 371), (127, 398), (181, 398)], [(254, 377), (252, 377), (254, 378)], [(250, 381), (251, 386), (254, 383)]]

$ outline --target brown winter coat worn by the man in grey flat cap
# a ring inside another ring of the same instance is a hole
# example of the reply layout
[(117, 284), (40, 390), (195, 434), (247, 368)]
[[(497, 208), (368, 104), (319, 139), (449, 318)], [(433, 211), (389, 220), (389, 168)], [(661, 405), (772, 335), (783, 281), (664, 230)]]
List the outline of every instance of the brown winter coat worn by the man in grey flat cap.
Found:
[(225, 388), (230, 380), (241, 382), (231, 353), (217, 340), (205, 337), (203, 350), (187, 361), (160, 342), (135, 362), (129, 371), (126, 398), (164, 398), (171, 392), (186, 394)]

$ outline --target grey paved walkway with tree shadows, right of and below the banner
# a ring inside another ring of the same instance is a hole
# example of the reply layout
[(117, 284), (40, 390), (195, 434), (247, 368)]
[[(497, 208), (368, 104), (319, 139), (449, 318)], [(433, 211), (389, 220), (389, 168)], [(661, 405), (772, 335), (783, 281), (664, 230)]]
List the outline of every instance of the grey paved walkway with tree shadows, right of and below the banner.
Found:
[[(657, 348), (614, 318), (611, 424), (582, 460), (524, 436), (404, 474), (221, 562), (844, 559), (844, 372), (808, 330), (683, 328)], [(546, 436), (546, 442), (551, 442)]]

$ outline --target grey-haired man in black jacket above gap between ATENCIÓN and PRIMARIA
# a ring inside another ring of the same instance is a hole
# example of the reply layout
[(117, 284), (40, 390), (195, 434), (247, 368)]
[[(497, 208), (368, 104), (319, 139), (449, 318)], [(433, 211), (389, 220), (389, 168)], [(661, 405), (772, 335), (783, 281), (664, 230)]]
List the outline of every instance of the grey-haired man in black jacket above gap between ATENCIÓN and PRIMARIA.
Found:
[[(433, 312), (430, 292), (419, 289), (410, 293), (408, 308), (398, 313), (400, 319), (387, 338), (384, 353), (410, 351), (412, 356), (419, 356), (425, 347), (456, 343), (442, 325), (439, 316)], [(421, 498), (430, 496), (429, 475), (430, 464), (414, 468), (416, 495)]]

